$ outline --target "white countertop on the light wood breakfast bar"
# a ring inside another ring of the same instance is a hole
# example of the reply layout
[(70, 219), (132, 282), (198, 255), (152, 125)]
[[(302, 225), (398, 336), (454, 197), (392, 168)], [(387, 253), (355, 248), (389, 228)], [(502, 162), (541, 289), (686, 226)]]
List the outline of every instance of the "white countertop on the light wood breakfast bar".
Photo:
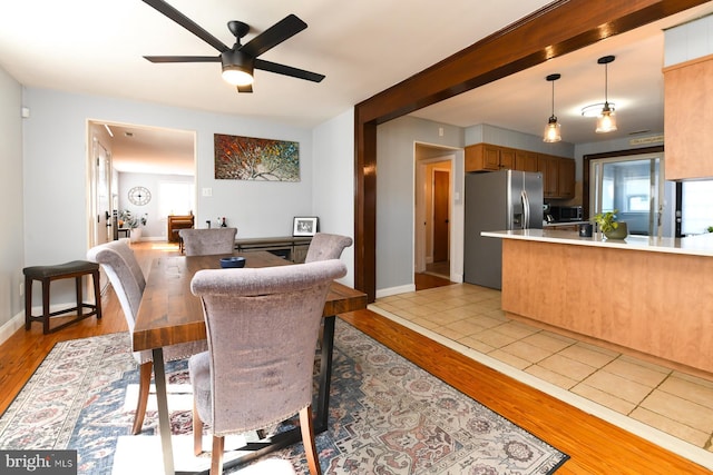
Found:
[(685, 238), (656, 238), (628, 236), (626, 239), (605, 239), (600, 232), (593, 237), (579, 237), (577, 231), (557, 229), (524, 229), (511, 231), (482, 231), (481, 236), (500, 239), (521, 239), (574, 246), (595, 246), (616, 249), (644, 250), (692, 256), (713, 257), (713, 234)]

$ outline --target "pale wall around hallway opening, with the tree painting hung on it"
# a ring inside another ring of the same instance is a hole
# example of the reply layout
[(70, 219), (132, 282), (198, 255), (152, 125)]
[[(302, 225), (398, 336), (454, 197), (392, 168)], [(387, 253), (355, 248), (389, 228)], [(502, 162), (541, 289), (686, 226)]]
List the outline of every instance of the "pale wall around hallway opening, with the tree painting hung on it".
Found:
[[(18, 97), (19, 108), (19, 97)], [(56, 264), (84, 258), (87, 251), (87, 121), (106, 120), (196, 131), (196, 222), (225, 216), (240, 229), (242, 237), (290, 236), (294, 216), (312, 216), (313, 192), (322, 186), (335, 187), (349, 195), (344, 202), (332, 200), (324, 209), (324, 230), (344, 229), (340, 212), (353, 212), (353, 175), (345, 182), (322, 185), (314, 179), (313, 131), (251, 117), (215, 115), (170, 108), (117, 98), (95, 97), (28, 88), (26, 106), (31, 118), (25, 121), (25, 265)], [(18, 110), (18, 109), (16, 109)], [(348, 116), (349, 113), (346, 113)], [(18, 112), (19, 116), (19, 112)], [(325, 167), (353, 167), (353, 146), (349, 140), (329, 144), (332, 133), (345, 138), (353, 135), (346, 116), (326, 122), (315, 136), (328, 141), (321, 160)], [(300, 142), (301, 181), (262, 182), (216, 180), (213, 167), (213, 135), (231, 133)], [(352, 139), (353, 140), (353, 139)], [(18, 150), (19, 151), (19, 150)], [(19, 155), (19, 154), (18, 154)], [(330, 164), (340, 159), (348, 164)], [(326, 178), (326, 177), (325, 177)], [(18, 177), (14, 178), (19, 181)], [(203, 197), (202, 188), (211, 188), (212, 197)], [(7, 202), (17, 202), (6, 200)], [(342, 211), (343, 210), (343, 211)], [(351, 230), (351, 226), (349, 227)], [(21, 241), (21, 238), (20, 238)], [(22, 255), (21, 249), (16, 253)], [(17, 270), (17, 269), (16, 269)], [(61, 284), (59, 281), (57, 284)], [(60, 287), (59, 285), (57, 287)], [(57, 298), (61, 294), (64, 299)], [(71, 301), (71, 288), (52, 288), (52, 303)]]

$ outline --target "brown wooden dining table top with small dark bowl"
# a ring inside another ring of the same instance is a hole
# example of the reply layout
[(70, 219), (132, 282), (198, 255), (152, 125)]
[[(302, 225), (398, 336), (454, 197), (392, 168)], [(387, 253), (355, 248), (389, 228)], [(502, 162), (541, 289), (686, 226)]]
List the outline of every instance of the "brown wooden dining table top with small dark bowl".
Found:
[[(221, 258), (213, 256), (157, 257), (146, 279), (133, 333), (134, 350), (154, 349), (177, 343), (206, 338), (201, 299), (191, 293), (191, 280), (202, 269), (219, 269)], [(292, 263), (267, 251), (234, 256), (245, 257), (245, 267), (272, 267)], [(225, 269), (228, 273), (241, 269)], [(367, 308), (367, 294), (333, 281), (324, 304), (324, 317)]]

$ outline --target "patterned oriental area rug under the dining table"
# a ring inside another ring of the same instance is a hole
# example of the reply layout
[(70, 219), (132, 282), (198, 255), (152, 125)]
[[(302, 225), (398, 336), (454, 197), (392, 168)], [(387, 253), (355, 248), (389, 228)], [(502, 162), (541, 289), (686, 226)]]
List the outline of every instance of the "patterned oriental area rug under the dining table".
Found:
[[(329, 429), (316, 436), (324, 474), (535, 475), (568, 458), (339, 318), (333, 365)], [(211, 457), (193, 456), (186, 367), (167, 365), (179, 473), (206, 471)], [(137, 393), (127, 334), (57, 344), (0, 417), (0, 449), (76, 449), (79, 474), (160, 473), (153, 396), (141, 434), (130, 435)], [(226, 448), (246, 441), (228, 439)], [(287, 459), (309, 474), (301, 443), (264, 458)]]

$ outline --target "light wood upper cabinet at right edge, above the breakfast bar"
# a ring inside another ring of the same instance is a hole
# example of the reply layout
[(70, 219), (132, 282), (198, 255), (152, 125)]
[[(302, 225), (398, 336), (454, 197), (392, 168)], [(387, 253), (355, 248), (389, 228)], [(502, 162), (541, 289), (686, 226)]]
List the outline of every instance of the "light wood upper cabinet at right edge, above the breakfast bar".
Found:
[(666, 180), (713, 177), (713, 55), (664, 69)]

